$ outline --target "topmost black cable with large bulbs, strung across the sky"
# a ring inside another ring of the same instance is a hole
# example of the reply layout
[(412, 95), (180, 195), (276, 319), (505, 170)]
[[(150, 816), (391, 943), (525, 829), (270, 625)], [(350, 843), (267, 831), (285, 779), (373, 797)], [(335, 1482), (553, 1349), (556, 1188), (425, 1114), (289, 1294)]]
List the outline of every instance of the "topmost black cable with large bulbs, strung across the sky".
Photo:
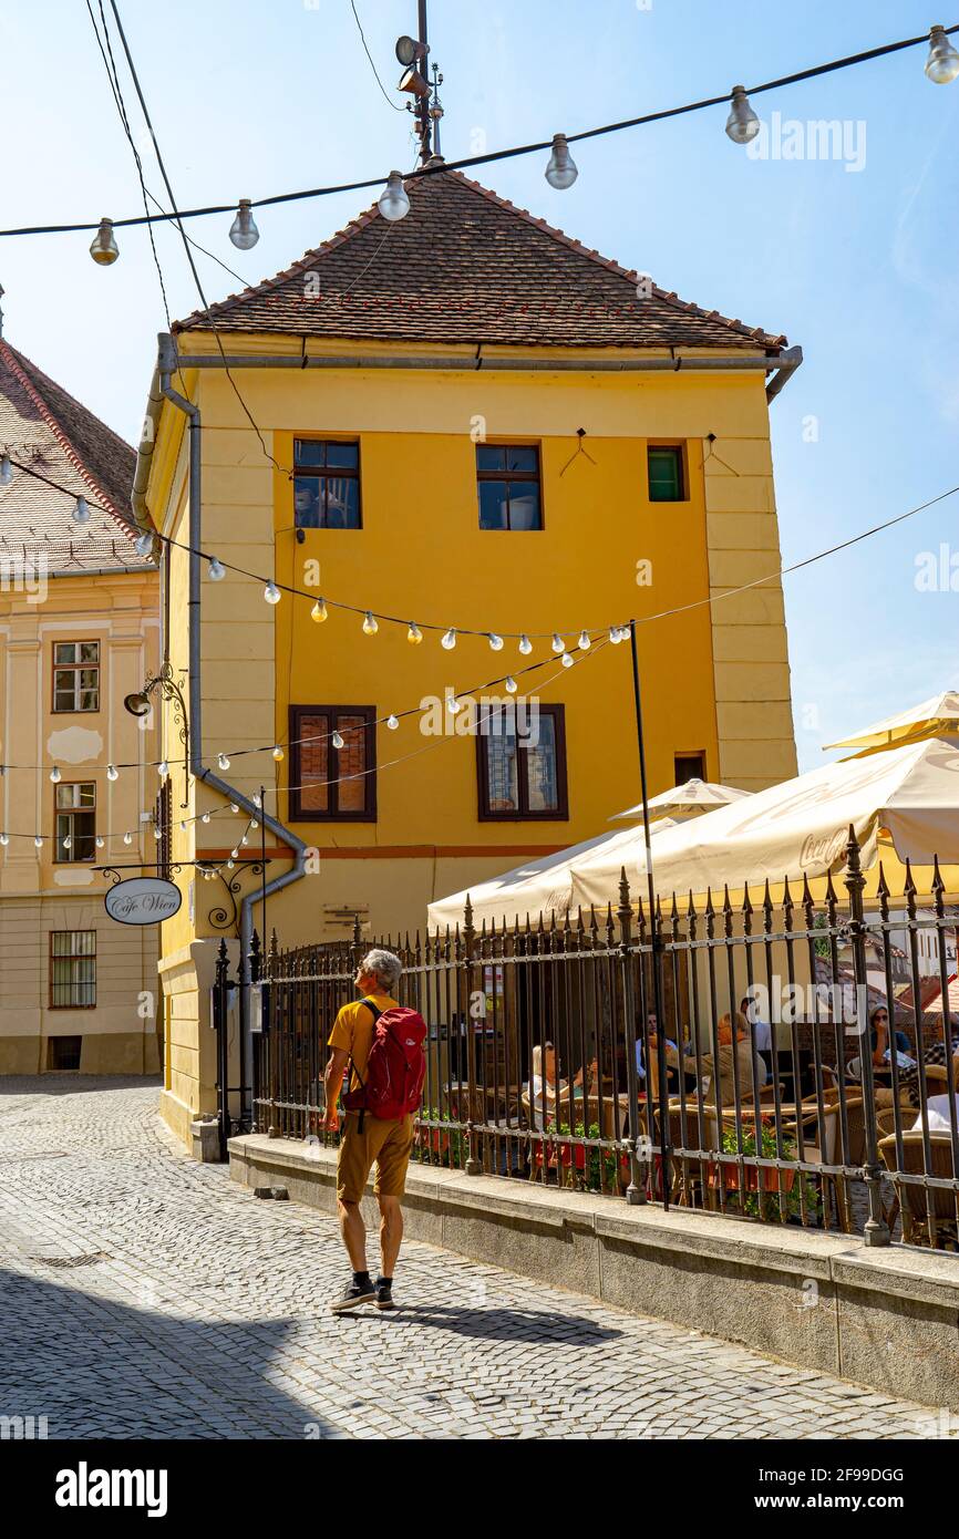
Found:
[[(115, 14), (114, 0), (111, 0), (111, 6)], [(119, 23), (119, 17), (117, 17), (117, 25), (120, 28), (120, 37), (123, 38), (123, 29)], [(836, 71), (840, 69), (851, 69), (857, 65), (865, 65), (876, 58), (884, 58), (888, 57), (890, 54), (902, 52), (904, 49), (922, 46), (924, 43), (930, 45), (930, 55), (925, 63), (927, 77), (933, 80), (936, 85), (948, 85), (959, 75), (959, 52), (948, 43), (948, 38), (956, 32), (959, 32), (959, 23), (954, 23), (951, 26), (936, 26), (930, 32), (922, 32), (917, 37), (905, 37), (901, 38), (899, 42), (882, 43), (877, 48), (868, 48), (856, 54), (847, 54), (844, 58), (833, 58), (822, 65), (813, 65), (808, 69), (797, 69), (793, 74), (779, 75), (776, 80), (765, 80), (760, 82), (759, 85), (734, 86), (731, 91), (723, 91), (717, 95), (705, 97), (699, 102), (687, 102), (682, 106), (663, 108), (656, 112), (643, 112), (639, 117), (620, 119), (616, 123), (602, 123), (596, 128), (580, 129), (576, 134), (557, 134), (553, 135), (553, 139), (537, 140), (528, 145), (513, 145), (506, 149), (486, 151), (485, 154), (479, 155), (465, 155), (459, 160), (448, 160), (436, 166), (428, 166), (428, 165), (420, 166), (409, 174), (408, 180), (419, 182), (425, 177), (442, 174), (443, 171), (465, 171), (469, 169), (471, 166), (493, 165), (500, 160), (514, 160), (520, 155), (542, 154), (546, 149), (551, 151), (551, 163), (553, 163), (553, 155), (556, 154), (557, 149), (557, 140), (562, 140), (563, 145), (568, 146), (571, 143), (577, 143), (582, 140), (599, 139), (606, 134), (620, 134), (631, 128), (645, 128), (650, 123), (662, 123), (670, 119), (682, 117), (690, 112), (702, 112), (710, 108), (725, 106), (725, 105), (731, 105), (733, 108), (733, 111), (730, 112), (730, 122), (727, 122), (727, 132), (730, 134), (730, 139), (733, 139), (736, 143), (748, 143), (748, 140), (753, 139), (759, 131), (759, 123), (753, 122), (754, 114), (751, 114), (751, 109), (748, 106), (748, 97), (762, 95), (767, 91), (779, 91), (787, 86), (799, 85), (805, 80), (814, 80), (820, 75), (834, 74)], [(129, 58), (129, 51), (126, 49), (126, 52)], [(155, 135), (154, 135), (154, 146), (155, 146)], [(554, 185), (570, 186), (573, 180), (576, 180), (576, 168), (573, 166), (571, 169), (573, 169), (573, 177), (570, 180), (560, 179)], [(388, 179), (385, 179), (383, 175), (365, 177), (363, 180), (359, 182), (340, 182), (336, 185), (319, 186), (319, 188), (302, 188), (296, 192), (277, 192), (269, 197), (248, 199), (245, 202), (248, 203), (248, 208), (272, 208), (280, 203), (296, 203), (305, 199), (332, 197), (339, 192), (362, 192), (371, 188), (383, 186), (383, 182), (386, 180)], [(185, 219), (206, 219), (214, 214), (231, 214), (236, 212), (237, 208), (236, 203), (211, 203), (203, 208), (177, 209), (172, 195), (169, 202), (172, 206), (171, 212), (139, 214), (128, 219), (111, 220), (109, 222), (111, 228), (122, 229), (122, 228), (134, 228), (139, 225), (162, 223), (162, 222), (166, 223), (174, 222), (177, 226), (182, 226), (182, 222)], [(71, 225), (54, 225), (54, 223), (22, 225), (12, 229), (0, 229), (0, 237), (74, 234), (91, 229), (97, 231), (100, 225), (102, 220), (92, 220), (92, 222), (85, 220), (82, 223), (71, 223)]]

